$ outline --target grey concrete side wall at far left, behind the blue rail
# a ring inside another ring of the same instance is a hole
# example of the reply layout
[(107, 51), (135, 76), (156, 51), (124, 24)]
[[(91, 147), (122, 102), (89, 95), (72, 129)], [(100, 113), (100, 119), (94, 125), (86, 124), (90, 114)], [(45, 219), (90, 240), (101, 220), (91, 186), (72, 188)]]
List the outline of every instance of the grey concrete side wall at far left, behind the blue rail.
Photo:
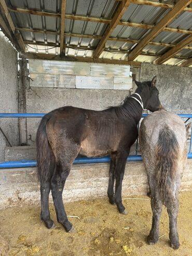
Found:
[[(17, 51), (0, 31), (0, 112), (18, 113), (18, 65)], [(1, 118), (0, 126), (13, 146), (19, 144), (17, 118)], [(4, 161), (4, 147), (7, 144), (0, 131), (0, 161)]]

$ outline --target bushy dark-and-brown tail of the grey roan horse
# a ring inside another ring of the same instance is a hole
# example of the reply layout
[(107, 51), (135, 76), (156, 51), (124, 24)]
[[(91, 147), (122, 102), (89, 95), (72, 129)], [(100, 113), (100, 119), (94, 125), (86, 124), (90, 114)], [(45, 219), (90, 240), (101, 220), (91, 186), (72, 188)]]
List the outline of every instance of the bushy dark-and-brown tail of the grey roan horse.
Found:
[(165, 127), (159, 132), (156, 148), (156, 178), (164, 203), (173, 195), (178, 157), (179, 144), (175, 134), (169, 127)]

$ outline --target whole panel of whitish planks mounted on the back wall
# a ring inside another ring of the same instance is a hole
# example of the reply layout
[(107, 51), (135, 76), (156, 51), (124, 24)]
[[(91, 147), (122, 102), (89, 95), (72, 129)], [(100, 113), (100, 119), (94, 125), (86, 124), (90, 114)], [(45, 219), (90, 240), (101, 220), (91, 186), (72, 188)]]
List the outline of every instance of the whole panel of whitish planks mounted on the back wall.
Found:
[(129, 65), (29, 60), (31, 86), (130, 90)]

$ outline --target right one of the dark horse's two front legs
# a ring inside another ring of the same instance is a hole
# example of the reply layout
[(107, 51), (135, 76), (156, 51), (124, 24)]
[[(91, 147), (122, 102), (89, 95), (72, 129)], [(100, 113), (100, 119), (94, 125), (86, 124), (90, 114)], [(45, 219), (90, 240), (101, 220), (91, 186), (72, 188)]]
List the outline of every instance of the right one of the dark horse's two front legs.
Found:
[(127, 211), (122, 205), (122, 180), (124, 179), (125, 166), (129, 152), (119, 153), (115, 163), (115, 203), (120, 213), (127, 214)]

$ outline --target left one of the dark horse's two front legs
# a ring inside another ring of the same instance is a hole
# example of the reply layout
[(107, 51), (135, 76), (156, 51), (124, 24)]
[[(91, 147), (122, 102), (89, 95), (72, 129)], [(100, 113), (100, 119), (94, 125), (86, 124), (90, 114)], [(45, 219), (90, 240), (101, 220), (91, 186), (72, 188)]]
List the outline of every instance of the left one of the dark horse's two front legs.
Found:
[(108, 179), (108, 190), (107, 190), (109, 203), (111, 203), (112, 205), (115, 205), (114, 181), (115, 181), (115, 155), (112, 155), (110, 167), (109, 167), (109, 179)]

